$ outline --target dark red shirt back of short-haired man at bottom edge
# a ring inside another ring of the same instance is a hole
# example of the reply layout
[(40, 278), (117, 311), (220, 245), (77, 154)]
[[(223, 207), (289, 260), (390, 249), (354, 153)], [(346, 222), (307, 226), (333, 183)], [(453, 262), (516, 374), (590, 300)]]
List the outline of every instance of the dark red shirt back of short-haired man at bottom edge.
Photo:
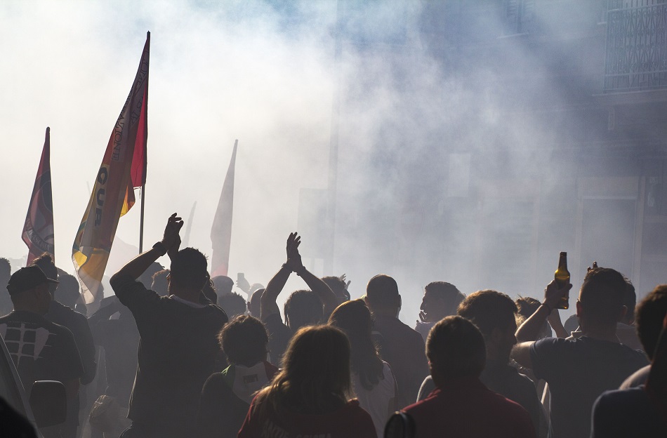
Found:
[(419, 438), (535, 437), (525, 409), (472, 377), (451, 381), (404, 411)]

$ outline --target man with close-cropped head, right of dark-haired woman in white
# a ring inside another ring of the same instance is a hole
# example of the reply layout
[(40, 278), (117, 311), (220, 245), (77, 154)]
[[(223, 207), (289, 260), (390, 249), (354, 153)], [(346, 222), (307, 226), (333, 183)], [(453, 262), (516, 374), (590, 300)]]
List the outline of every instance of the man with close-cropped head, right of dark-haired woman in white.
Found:
[(366, 304), (374, 317), (374, 340), (380, 356), (387, 361), (398, 384), (398, 406), (417, 399), (419, 386), (428, 376), (424, 340), (419, 333), (398, 319), (401, 296), (396, 281), (376, 275), (366, 286)]

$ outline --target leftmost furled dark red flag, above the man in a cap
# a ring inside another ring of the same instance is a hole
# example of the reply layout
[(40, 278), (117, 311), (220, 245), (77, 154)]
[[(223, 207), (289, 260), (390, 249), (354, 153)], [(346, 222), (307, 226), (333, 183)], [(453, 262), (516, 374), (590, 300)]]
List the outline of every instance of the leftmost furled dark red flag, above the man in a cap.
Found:
[(55, 259), (53, 241), (53, 198), (51, 197), (51, 129), (46, 128), (44, 149), (41, 151), (37, 177), (34, 179), (32, 198), (25, 215), (23, 241), (28, 246), (28, 265), (42, 253)]

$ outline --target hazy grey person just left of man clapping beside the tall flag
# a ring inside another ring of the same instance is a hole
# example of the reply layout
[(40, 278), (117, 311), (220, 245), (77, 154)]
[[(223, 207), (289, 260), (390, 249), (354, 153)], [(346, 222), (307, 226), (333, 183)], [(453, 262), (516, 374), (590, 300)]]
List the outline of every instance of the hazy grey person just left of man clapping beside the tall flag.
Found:
[[(112, 318), (114, 314), (118, 314), (118, 317)], [(116, 421), (101, 432), (104, 432), (105, 438), (117, 438), (131, 423), (127, 413), (137, 373), (139, 331), (132, 312), (116, 296), (105, 298), (105, 303), (88, 318), (88, 323), (95, 344), (104, 349), (107, 380), (104, 395), (113, 398), (105, 402), (115, 402), (119, 407)]]

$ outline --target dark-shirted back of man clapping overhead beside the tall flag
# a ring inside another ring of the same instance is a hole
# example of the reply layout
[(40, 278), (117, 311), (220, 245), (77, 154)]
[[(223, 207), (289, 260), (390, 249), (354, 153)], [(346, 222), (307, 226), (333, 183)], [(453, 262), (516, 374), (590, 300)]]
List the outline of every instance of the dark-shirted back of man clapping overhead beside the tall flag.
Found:
[(199, 394), (216, 371), (216, 338), (227, 322), (216, 305), (160, 297), (131, 278), (114, 286), (140, 334), (137, 376), (128, 417), (135, 422), (192, 429)]

